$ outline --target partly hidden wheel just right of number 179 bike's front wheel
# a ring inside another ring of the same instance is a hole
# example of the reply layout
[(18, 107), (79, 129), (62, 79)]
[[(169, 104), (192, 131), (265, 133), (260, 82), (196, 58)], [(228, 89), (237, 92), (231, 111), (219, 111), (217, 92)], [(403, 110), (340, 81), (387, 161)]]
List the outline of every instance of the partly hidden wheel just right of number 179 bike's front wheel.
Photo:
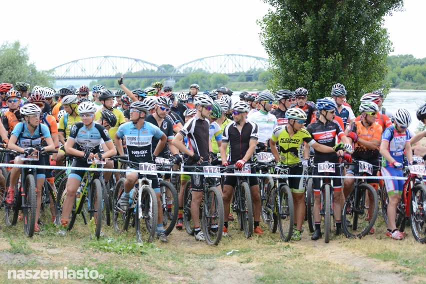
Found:
[(161, 192), (162, 226), (168, 235), (174, 228), (179, 213), (179, 200), (176, 188), (167, 181), (159, 182)]

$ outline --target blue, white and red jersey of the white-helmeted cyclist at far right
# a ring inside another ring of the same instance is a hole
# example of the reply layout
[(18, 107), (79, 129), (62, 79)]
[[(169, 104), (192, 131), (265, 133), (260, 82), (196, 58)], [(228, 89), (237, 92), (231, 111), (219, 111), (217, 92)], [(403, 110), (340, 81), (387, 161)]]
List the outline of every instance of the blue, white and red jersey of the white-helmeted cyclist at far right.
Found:
[[(389, 145), (387, 150), (389, 151), (392, 158), (400, 163), (404, 162), (404, 149), (405, 143), (409, 142), (409, 132), (399, 132), (395, 129), (394, 125), (391, 125), (384, 129), (381, 134), (381, 140), (388, 141)], [(384, 157), (381, 157), (381, 166), (393, 166)]]

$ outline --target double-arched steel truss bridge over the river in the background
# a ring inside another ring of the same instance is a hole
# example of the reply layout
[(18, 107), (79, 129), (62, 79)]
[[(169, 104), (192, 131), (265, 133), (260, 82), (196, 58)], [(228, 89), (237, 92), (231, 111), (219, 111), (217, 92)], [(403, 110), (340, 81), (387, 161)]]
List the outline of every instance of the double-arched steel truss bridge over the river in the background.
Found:
[[(117, 78), (120, 74), (139, 72), (127, 78), (184, 77), (194, 71), (232, 75), (249, 75), (253, 69), (267, 69), (268, 60), (243, 54), (223, 54), (198, 58), (165, 70), (162, 66), (137, 58), (122, 56), (96, 56), (73, 60), (54, 67), (56, 80)], [(238, 75), (238, 74), (236, 74)]]

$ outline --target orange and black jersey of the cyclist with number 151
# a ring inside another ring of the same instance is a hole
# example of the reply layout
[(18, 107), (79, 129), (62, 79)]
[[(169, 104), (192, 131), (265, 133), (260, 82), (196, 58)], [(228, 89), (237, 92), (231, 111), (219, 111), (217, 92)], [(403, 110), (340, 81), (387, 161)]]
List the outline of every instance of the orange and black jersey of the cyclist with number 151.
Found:
[[(376, 139), (380, 141), (382, 128), (378, 123), (372, 123), (371, 126), (365, 127), (361, 121), (355, 121), (352, 123), (349, 132), (355, 132), (359, 138), (362, 138), (367, 141), (371, 141), (372, 139)], [(352, 157), (357, 160), (371, 160), (377, 159), (380, 153), (378, 152), (378, 148), (376, 149), (368, 149), (367, 147), (355, 143), (354, 152), (352, 153)]]

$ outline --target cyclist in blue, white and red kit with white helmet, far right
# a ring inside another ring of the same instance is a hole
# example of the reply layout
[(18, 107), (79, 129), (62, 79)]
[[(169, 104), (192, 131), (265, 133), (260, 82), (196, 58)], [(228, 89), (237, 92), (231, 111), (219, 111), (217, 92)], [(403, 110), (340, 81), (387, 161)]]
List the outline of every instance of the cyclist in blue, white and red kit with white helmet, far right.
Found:
[[(407, 127), (411, 124), (411, 116), (405, 108), (398, 108), (393, 115), (393, 125), (383, 130), (380, 143), (381, 175), (403, 176), (404, 150), (408, 163), (412, 164), (412, 151)], [(404, 180), (385, 179), (387, 196), (387, 231), (392, 239), (402, 239), (405, 234), (396, 228), (396, 206), (401, 198)]]

